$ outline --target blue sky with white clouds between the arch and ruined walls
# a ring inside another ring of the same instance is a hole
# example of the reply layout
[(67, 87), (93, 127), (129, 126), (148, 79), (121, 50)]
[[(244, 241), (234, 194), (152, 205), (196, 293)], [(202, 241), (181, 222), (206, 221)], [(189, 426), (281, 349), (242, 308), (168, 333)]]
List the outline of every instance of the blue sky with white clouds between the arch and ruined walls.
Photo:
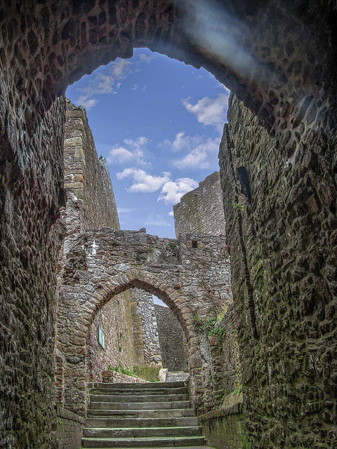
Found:
[(228, 94), (206, 70), (147, 48), (67, 89), (107, 159), (121, 229), (175, 236), (173, 204), (218, 170)]

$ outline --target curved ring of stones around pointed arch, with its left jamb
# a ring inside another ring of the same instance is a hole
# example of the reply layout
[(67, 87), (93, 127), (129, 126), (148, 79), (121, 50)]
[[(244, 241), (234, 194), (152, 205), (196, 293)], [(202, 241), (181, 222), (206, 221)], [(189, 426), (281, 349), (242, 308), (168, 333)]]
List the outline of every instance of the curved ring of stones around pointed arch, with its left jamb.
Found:
[[(181, 307), (176, 301), (179, 299), (176, 291), (166, 285), (162, 276), (140, 272), (121, 273), (114, 279), (107, 279), (94, 294), (90, 293), (91, 288), (87, 288), (81, 295), (81, 307), (76, 307), (74, 304), (70, 311), (71, 319), (62, 323), (62, 335), (67, 334), (67, 338), (58, 339), (58, 350), (64, 354), (64, 402), (67, 409), (75, 413), (86, 416), (88, 405), (86, 342), (91, 324), (95, 315), (107, 302), (129, 288), (141, 288), (163, 300), (173, 310), (182, 325), (189, 352), (195, 350), (193, 313), (189, 307)], [(70, 293), (69, 290), (67, 292)], [(65, 299), (65, 296), (62, 297)]]

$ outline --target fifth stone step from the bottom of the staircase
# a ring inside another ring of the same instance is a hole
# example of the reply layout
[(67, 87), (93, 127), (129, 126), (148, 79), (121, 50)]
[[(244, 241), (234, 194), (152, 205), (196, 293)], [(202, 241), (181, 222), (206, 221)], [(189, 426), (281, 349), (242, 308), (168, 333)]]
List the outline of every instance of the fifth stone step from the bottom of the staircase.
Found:
[(95, 410), (176, 410), (191, 408), (191, 401), (164, 402), (91, 402), (89, 408)]

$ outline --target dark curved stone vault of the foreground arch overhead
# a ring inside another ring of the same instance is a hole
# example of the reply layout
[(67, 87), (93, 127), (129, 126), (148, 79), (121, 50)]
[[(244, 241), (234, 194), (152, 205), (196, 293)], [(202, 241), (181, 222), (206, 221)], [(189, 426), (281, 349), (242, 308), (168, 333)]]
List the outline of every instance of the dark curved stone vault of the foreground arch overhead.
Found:
[[(18, 95), (31, 130), (70, 83), (142, 46), (205, 67), (268, 130), (290, 132), (289, 145), (298, 142), (300, 123), (312, 128), (324, 109), (322, 97), (333, 94), (336, 71), (331, 76), (329, 57), (336, 55), (335, 36), (329, 27), (315, 32), (333, 11), (314, 1), (64, 0), (56, 6), (49, 0), (32, 1), (29, 11), (10, 5), (3, 11), (10, 18), (3, 56), (11, 61), (6, 79), (13, 81), (1, 93), (12, 123), (21, 115)], [(324, 78), (332, 83), (324, 84), (323, 95)]]

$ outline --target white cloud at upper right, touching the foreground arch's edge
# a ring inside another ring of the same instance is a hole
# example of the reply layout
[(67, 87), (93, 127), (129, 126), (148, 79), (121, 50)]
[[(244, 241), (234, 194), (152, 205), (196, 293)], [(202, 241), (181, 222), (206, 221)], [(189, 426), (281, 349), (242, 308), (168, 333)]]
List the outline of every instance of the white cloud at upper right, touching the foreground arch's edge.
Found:
[(225, 123), (225, 112), (228, 106), (228, 95), (220, 93), (216, 98), (203, 97), (192, 105), (190, 98), (183, 100), (183, 105), (188, 112), (197, 117), (197, 121), (205, 126), (214, 126), (220, 133)]

